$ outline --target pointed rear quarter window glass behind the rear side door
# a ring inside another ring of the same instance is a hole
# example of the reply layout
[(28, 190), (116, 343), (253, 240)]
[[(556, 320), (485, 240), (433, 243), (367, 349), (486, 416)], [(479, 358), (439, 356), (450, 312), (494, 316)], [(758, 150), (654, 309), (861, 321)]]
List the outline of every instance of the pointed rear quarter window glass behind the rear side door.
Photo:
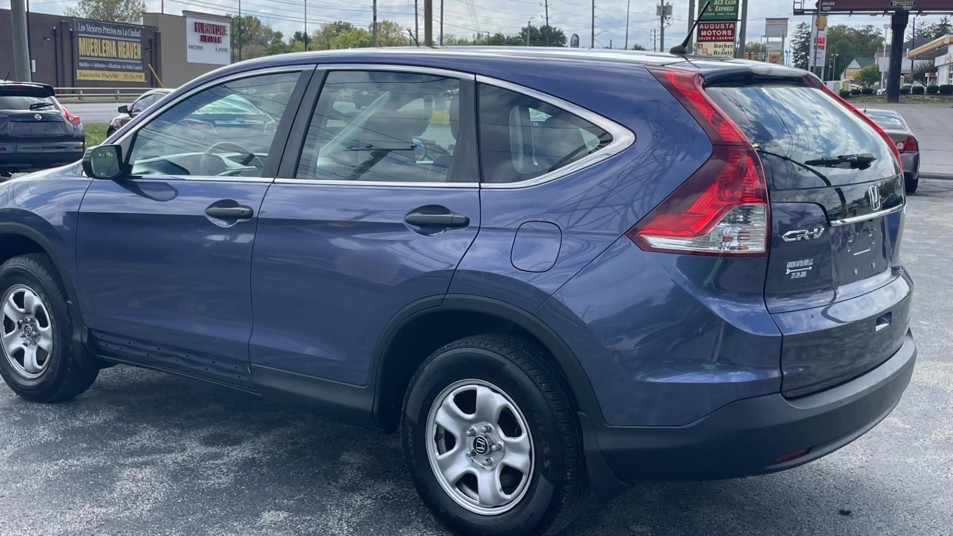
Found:
[(612, 134), (558, 106), (496, 86), (479, 89), (483, 181), (520, 182), (557, 171), (612, 142)]

